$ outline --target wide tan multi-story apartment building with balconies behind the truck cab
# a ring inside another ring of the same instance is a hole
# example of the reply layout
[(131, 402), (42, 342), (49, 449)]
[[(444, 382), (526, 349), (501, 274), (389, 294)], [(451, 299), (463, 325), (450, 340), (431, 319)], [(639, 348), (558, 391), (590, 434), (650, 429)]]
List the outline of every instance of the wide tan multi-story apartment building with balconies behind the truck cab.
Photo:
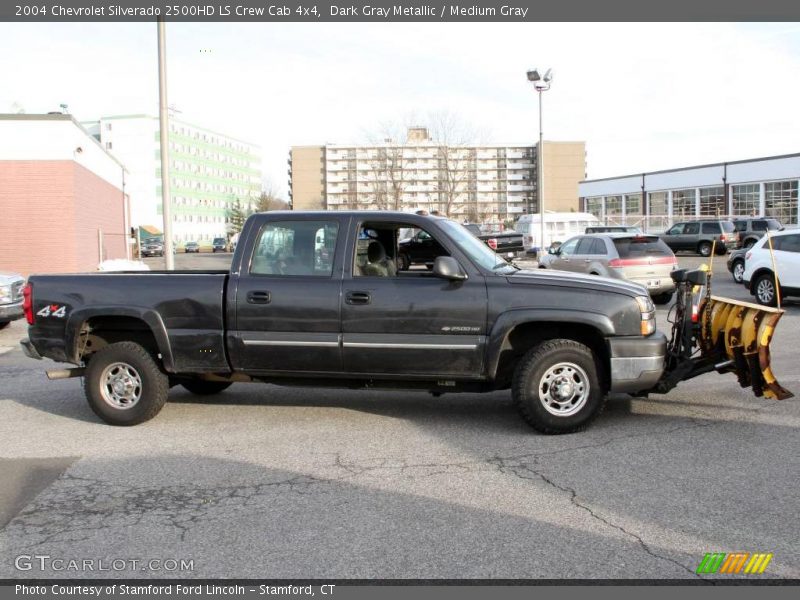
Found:
[[(424, 128), (404, 143), (295, 146), (289, 156), (292, 207), (439, 210), (470, 221), (538, 211), (537, 146), (448, 146)], [(578, 209), (586, 177), (583, 142), (544, 143), (547, 210)]]

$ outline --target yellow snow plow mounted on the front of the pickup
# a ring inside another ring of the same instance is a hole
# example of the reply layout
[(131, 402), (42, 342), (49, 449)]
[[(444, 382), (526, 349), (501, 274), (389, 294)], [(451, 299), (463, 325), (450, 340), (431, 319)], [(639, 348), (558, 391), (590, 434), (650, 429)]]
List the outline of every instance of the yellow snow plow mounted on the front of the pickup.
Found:
[(653, 390), (665, 393), (704, 373), (735, 373), (757, 397), (794, 396), (772, 373), (769, 345), (783, 310), (711, 295), (711, 273), (673, 271), (677, 298), (670, 321), (664, 376)]

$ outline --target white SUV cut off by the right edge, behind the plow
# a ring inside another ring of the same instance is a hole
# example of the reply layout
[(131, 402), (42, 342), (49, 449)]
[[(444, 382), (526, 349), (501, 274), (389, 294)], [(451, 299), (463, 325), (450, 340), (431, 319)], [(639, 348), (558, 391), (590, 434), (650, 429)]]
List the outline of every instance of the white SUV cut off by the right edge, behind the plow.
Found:
[[(800, 231), (786, 230), (770, 234), (772, 252), (767, 236), (758, 240), (745, 254), (742, 282), (759, 304), (776, 306), (780, 297), (800, 296)], [(773, 268), (772, 256), (775, 255)], [(775, 269), (778, 284), (775, 285)]]

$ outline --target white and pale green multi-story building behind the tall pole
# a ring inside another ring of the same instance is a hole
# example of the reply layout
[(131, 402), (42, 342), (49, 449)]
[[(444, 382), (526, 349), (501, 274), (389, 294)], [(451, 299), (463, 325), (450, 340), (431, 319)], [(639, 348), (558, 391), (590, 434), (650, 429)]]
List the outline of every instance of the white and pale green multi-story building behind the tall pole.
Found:
[[(129, 172), (133, 226), (161, 228), (159, 121), (149, 115), (84, 123)], [(247, 207), (261, 190), (261, 152), (248, 142), (170, 118), (172, 232), (178, 242), (225, 237), (237, 201)]]

